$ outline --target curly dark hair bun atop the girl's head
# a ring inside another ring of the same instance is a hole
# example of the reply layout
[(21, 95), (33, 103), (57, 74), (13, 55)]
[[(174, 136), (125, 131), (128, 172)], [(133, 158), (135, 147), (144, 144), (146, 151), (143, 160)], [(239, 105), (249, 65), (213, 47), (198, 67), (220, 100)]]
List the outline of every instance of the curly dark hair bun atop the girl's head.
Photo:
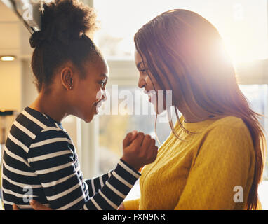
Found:
[(96, 15), (93, 8), (78, 0), (55, 0), (41, 7), (41, 31), (32, 34), (29, 43), (36, 48), (43, 42), (58, 41), (69, 45), (82, 34), (93, 34)]

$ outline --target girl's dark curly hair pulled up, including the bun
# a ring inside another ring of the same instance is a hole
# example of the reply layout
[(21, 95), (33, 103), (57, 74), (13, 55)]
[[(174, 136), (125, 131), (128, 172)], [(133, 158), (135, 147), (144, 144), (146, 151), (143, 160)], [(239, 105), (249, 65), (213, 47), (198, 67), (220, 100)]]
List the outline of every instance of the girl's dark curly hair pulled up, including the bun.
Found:
[(42, 87), (48, 91), (53, 74), (63, 63), (72, 62), (85, 78), (83, 62), (100, 56), (88, 37), (97, 27), (92, 8), (75, 0), (55, 0), (43, 3), (41, 10), (41, 31), (35, 31), (29, 39), (35, 48), (31, 66), (39, 92)]

